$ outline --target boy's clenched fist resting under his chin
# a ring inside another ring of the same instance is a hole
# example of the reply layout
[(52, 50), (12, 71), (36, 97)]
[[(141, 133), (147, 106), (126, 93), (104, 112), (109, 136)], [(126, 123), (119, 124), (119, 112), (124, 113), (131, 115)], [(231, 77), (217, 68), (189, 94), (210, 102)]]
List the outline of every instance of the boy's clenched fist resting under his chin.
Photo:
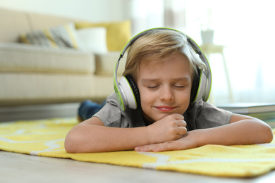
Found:
[(149, 143), (180, 139), (187, 132), (183, 115), (171, 114), (147, 127)]

